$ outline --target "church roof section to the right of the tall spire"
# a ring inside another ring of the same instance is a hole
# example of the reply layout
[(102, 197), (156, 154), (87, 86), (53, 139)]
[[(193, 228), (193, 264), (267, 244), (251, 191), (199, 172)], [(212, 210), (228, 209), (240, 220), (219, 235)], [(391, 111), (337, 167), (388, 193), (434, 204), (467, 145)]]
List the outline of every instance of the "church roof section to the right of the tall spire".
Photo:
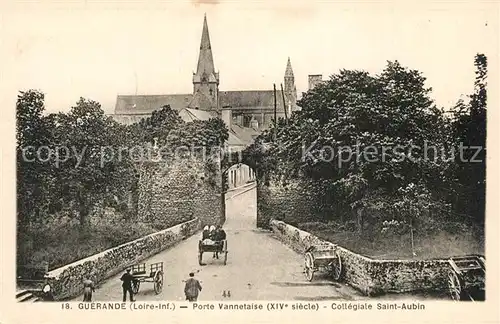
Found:
[[(273, 90), (220, 91), (220, 106), (232, 108), (274, 108)], [(283, 111), (283, 96), (281, 90), (276, 91), (277, 111)]]

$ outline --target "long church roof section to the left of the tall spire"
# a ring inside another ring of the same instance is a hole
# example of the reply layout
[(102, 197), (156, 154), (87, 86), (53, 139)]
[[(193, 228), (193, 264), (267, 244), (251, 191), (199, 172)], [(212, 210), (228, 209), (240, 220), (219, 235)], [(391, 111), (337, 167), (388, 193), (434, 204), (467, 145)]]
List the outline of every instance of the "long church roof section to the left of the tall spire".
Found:
[(192, 94), (172, 95), (118, 95), (115, 114), (144, 114), (170, 105), (174, 110), (186, 108), (193, 99)]

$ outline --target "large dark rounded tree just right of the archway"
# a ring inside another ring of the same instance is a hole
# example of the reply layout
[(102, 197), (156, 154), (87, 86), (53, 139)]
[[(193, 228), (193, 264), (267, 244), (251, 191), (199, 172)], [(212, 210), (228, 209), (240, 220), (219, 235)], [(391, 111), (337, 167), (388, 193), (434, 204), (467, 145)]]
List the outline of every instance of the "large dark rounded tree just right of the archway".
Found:
[(421, 73), (397, 61), (376, 76), (341, 70), (305, 93), (302, 110), (246, 153), (260, 154), (260, 166), (272, 161), (268, 177), (303, 181), (337, 214), (350, 210), (362, 231), (363, 211), (410, 183), (423, 180), (431, 188), (443, 172), (443, 164), (424, 159), (422, 150), (411, 154), (415, 145), (440, 148), (447, 139), (446, 118), (430, 91)]

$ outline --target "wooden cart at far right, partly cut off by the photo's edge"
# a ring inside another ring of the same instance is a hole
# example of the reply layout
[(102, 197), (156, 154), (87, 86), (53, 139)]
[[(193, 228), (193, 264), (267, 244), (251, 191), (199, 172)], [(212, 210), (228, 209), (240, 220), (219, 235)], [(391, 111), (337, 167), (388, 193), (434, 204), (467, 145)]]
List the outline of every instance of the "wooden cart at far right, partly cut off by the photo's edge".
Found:
[(466, 255), (451, 257), (448, 272), (448, 292), (451, 299), (484, 300), (485, 293), (485, 259), (482, 255)]

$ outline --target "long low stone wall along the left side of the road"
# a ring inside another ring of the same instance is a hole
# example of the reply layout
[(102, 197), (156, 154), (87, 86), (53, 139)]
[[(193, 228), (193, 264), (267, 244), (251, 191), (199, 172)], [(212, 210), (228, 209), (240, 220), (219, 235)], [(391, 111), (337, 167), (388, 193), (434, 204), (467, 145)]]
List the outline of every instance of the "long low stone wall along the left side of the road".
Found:
[(47, 281), (56, 300), (76, 297), (83, 293), (82, 282), (85, 278), (99, 283), (175, 245), (198, 229), (198, 219), (176, 225), (52, 270), (48, 273)]

